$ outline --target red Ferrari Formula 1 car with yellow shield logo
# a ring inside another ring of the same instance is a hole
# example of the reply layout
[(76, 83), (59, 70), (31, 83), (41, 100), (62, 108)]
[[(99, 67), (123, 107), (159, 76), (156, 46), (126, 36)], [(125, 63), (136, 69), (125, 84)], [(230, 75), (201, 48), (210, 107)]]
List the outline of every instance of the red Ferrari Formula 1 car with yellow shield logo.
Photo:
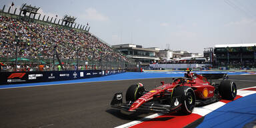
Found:
[[(124, 111), (146, 111), (153, 113), (192, 113), (195, 106), (208, 105), (221, 99), (233, 100), (237, 95), (234, 81), (225, 73), (197, 74), (186, 70), (185, 77), (173, 78), (173, 83), (145, 91), (143, 84), (131, 85), (125, 95), (115, 93), (111, 107)], [(221, 79), (219, 84), (212, 79)]]

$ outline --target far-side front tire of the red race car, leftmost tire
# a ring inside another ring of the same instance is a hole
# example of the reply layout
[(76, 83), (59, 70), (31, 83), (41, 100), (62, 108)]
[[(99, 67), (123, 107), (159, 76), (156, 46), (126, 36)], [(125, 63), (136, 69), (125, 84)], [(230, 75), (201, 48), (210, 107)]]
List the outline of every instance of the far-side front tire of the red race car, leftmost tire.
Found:
[(136, 101), (137, 99), (139, 99), (139, 97), (143, 95), (144, 91), (144, 87), (141, 87), (139, 85), (131, 85), (126, 91), (125, 99), (127, 102)]

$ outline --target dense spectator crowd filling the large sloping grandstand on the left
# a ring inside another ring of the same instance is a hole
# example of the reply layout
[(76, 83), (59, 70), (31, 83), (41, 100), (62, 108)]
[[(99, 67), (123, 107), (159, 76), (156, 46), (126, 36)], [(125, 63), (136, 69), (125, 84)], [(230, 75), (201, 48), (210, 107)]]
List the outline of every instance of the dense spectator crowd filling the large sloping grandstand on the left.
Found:
[(128, 61), (87, 31), (0, 16), (0, 56), (15, 58), (16, 43), (18, 57), (24, 58), (51, 59), (56, 46), (61, 59), (77, 59), (78, 53), (84, 61)]

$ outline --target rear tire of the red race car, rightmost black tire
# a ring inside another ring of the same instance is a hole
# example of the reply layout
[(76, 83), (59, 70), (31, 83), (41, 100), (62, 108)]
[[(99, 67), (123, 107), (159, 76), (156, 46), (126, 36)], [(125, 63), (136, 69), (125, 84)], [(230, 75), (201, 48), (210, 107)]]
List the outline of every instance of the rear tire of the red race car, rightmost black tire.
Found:
[(237, 86), (234, 81), (224, 80), (219, 85), (219, 94), (222, 99), (233, 100), (237, 96)]

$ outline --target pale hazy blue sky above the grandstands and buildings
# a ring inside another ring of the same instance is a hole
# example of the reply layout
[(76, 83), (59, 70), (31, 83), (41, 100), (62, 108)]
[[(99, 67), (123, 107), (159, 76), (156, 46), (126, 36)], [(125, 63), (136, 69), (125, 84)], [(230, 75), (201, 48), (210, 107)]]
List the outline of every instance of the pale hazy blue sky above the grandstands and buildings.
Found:
[(77, 17), (109, 45), (203, 53), (215, 45), (256, 43), (255, 0), (2, 0), (0, 8), (12, 2), (57, 19)]

